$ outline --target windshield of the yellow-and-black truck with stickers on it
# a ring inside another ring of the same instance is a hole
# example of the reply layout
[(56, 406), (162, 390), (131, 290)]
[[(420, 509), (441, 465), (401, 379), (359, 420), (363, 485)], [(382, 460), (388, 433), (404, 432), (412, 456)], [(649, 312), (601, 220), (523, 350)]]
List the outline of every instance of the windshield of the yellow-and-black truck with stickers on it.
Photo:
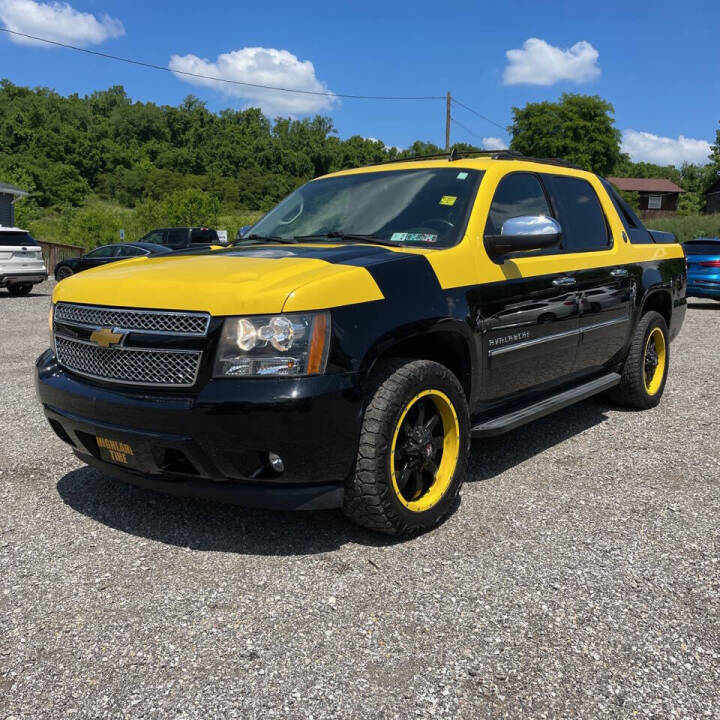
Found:
[(402, 245), (449, 247), (465, 230), (482, 173), (432, 168), (323, 178), (303, 185), (250, 235), (367, 235)]

